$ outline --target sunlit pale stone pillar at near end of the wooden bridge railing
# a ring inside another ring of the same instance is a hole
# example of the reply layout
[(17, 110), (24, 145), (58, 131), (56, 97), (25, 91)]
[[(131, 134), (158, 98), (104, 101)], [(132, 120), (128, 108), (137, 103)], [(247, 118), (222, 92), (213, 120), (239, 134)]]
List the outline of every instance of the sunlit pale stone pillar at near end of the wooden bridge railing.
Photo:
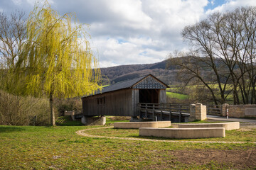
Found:
[(205, 120), (206, 119), (206, 106), (201, 103), (191, 104), (190, 106), (190, 116), (188, 121), (192, 122), (194, 120)]

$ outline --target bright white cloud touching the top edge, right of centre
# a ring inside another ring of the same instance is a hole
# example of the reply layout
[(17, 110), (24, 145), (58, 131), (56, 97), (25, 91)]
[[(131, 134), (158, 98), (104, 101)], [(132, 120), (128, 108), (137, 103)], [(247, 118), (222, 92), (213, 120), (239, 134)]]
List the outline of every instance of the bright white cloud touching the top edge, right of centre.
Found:
[[(208, 1), (161, 1), (156, 3), (145, 1), (145, 10), (154, 18), (154, 28), (159, 31), (163, 29), (180, 29), (187, 24), (199, 21), (203, 15), (203, 7)], [(159, 28), (160, 27), (160, 28)]]

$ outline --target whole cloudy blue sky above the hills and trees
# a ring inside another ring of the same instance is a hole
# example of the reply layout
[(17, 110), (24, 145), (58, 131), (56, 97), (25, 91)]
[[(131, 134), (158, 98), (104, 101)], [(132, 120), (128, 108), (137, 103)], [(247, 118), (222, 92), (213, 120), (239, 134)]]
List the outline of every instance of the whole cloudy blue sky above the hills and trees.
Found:
[[(256, 6), (255, 0), (48, 0), (60, 14), (75, 13), (90, 24), (90, 45), (100, 67), (165, 60), (174, 50), (188, 50), (181, 30), (215, 11)], [(35, 0), (0, 0), (0, 11), (27, 14)]]

